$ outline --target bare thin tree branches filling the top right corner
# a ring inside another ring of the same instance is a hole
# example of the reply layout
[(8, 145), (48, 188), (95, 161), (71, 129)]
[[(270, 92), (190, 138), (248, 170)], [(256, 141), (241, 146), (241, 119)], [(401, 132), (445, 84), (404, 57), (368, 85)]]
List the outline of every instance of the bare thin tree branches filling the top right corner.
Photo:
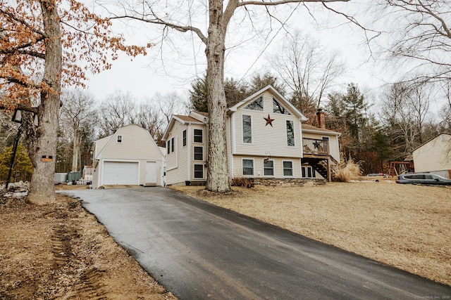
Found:
[[(451, 2), (448, 0), (386, 0), (393, 18), (387, 51), (412, 67), (423, 81), (451, 79)], [(390, 22), (386, 23), (390, 25)]]

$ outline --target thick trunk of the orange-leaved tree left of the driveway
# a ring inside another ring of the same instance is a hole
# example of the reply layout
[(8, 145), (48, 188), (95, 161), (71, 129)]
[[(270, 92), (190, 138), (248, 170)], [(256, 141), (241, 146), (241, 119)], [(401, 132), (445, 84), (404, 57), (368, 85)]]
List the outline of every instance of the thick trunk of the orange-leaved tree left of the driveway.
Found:
[[(33, 170), (28, 199), (37, 204), (55, 201), (54, 173), (58, 110), (61, 91), (61, 28), (54, 0), (41, 1), (44, 21), (45, 65), (44, 86), (41, 92), (36, 132), (36, 153), (33, 155)], [(47, 86), (45, 86), (47, 85)]]

